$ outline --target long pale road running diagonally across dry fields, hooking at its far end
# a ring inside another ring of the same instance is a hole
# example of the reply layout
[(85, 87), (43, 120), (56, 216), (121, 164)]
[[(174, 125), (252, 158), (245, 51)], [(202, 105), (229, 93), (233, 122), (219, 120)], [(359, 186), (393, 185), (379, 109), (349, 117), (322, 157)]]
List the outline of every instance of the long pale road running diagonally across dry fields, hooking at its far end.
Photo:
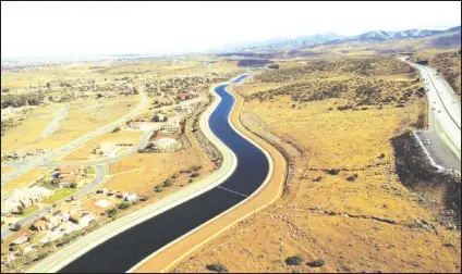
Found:
[(38, 157), (32, 159), (29, 161), (19, 163), (16, 165), (17, 166), (16, 169), (14, 169), (13, 171), (11, 171), (9, 173), (2, 174), (1, 183), (3, 184), (3, 183), (5, 183), (5, 182), (8, 182), (8, 180), (10, 180), (14, 177), (17, 177), (17, 176), (35, 169), (35, 167), (38, 167), (40, 165), (45, 165), (46, 162), (48, 160), (50, 160), (51, 158), (54, 158), (54, 157), (58, 157), (58, 155), (63, 154), (65, 152), (69, 152), (71, 149), (74, 149), (74, 148), (83, 145), (87, 140), (89, 140), (89, 139), (98, 136), (98, 135), (101, 135), (101, 134), (105, 134), (107, 132), (112, 130), (115, 126), (123, 124), (127, 120), (130, 120), (131, 117), (137, 115), (148, 104), (148, 98), (147, 98), (146, 94), (143, 90), (139, 90), (139, 95), (141, 95), (139, 103), (129, 114), (124, 115), (123, 117), (121, 117), (121, 119), (119, 119), (119, 120), (117, 120), (112, 123), (109, 123), (109, 124), (107, 124), (102, 127), (99, 127), (98, 129), (96, 129), (96, 130), (94, 130), (89, 134), (86, 134), (86, 135), (78, 137), (74, 140), (71, 140), (70, 142), (65, 144), (64, 146), (62, 146), (60, 148), (53, 149), (53, 150), (51, 150), (51, 151), (49, 151), (45, 154), (41, 154), (41, 155), (38, 155)]

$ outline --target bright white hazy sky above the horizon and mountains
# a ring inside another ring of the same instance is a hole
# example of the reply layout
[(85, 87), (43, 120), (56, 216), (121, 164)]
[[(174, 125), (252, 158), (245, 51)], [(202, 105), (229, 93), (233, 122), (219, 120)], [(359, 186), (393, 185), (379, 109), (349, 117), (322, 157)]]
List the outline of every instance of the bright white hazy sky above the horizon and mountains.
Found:
[(179, 53), (275, 37), (460, 24), (460, 1), (1, 2), (1, 55)]

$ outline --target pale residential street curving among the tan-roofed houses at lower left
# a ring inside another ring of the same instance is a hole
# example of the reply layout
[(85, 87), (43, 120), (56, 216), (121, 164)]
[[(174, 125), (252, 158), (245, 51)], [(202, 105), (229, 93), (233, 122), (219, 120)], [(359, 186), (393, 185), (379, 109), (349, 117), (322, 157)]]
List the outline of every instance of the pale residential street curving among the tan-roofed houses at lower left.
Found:
[[(73, 197), (74, 199), (78, 199), (82, 198), (88, 194), (90, 194), (105, 178), (105, 174), (106, 174), (106, 166), (105, 165), (97, 165), (96, 169), (96, 174), (95, 174), (95, 178), (86, 186), (84, 186), (83, 188), (81, 188), (78, 191), (76, 191)], [(57, 201), (56, 204), (60, 205), (61, 203), (63, 203), (65, 200), (65, 198), (63, 200)], [(44, 216), (48, 213), (48, 211), (52, 208), (52, 205), (46, 207), (28, 216), (25, 216), (23, 219), (21, 219), (20, 221), (17, 221), (16, 223), (21, 224), (23, 227), (31, 225), (36, 219)], [(9, 228), (1, 231), (1, 238), (4, 239), (8, 236), (10, 236), (11, 234), (13, 234), (14, 232), (10, 231)]]

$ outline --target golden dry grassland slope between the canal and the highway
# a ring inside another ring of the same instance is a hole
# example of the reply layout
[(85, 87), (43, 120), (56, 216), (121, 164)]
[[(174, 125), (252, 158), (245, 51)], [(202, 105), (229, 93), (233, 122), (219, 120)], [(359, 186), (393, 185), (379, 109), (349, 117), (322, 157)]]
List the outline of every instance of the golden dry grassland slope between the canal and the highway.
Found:
[[(406, 88), (393, 92), (401, 97)], [(305, 175), (292, 178), (300, 188), (199, 248), (175, 272), (205, 272), (215, 262), (230, 272), (460, 272), (460, 233), (439, 225), (393, 173), (390, 138), (414, 128), (425, 99), (412, 96), (403, 108), (336, 109), (346, 101), (301, 102), (290, 92), (247, 101), (263, 127), (309, 151), (308, 164), (296, 165)], [(288, 265), (295, 254), (304, 262)], [(309, 266), (318, 259), (324, 266)]]

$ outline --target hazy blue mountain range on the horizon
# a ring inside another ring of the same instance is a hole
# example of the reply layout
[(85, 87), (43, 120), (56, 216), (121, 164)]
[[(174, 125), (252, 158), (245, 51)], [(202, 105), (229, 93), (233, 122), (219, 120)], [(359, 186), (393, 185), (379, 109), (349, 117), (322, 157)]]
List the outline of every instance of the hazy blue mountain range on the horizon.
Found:
[(271, 50), (288, 50), (288, 49), (297, 49), (304, 47), (311, 47), (316, 45), (336, 45), (351, 41), (387, 41), (393, 39), (406, 39), (406, 38), (422, 38), (436, 36), (441, 34), (449, 33), (460, 33), (461, 26), (451, 27), (446, 30), (436, 30), (436, 29), (406, 29), (400, 32), (386, 32), (386, 30), (375, 30), (368, 32), (365, 34), (356, 36), (342, 36), (335, 33), (321, 34), (321, 35), (308, 35), (301, 36), (295, 39), (278, 39), (278, 41), (268, 40), (266, 42), (252, 42), (252, 45), (233, 45), (234, 47), (229, 47), (222, 49), (221, 52), (233, 52), (233, 51), (271, 51)]

